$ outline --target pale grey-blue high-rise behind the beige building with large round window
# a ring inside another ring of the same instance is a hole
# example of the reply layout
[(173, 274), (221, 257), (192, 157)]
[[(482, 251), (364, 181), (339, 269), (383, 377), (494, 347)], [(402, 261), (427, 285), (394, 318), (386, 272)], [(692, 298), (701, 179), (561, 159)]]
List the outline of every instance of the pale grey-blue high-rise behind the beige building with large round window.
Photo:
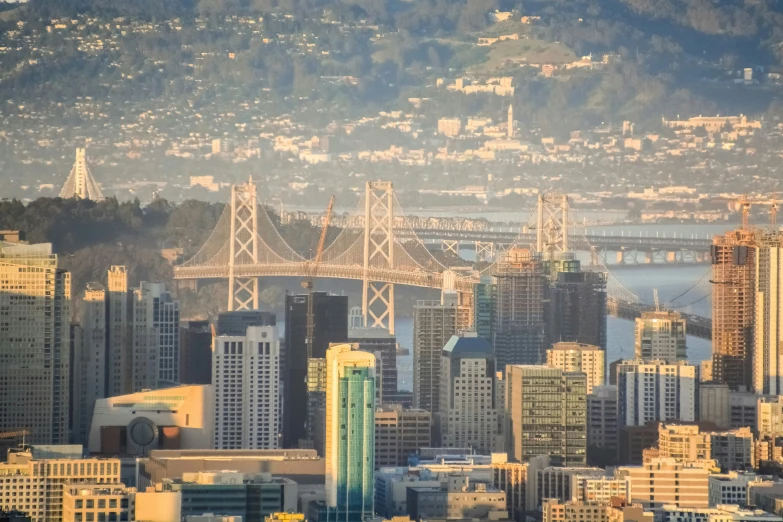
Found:
[(179, 303), (164, 283), (133, 290), (133, 391), (179, 382)]

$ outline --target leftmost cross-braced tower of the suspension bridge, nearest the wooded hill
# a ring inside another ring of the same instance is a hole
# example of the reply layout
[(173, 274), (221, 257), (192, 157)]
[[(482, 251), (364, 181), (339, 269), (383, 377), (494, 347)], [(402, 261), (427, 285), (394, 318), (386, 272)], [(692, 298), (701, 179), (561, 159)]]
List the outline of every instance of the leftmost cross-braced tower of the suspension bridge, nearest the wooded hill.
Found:
[[(231, 186), (228, 258), (228, 311), (258, 310), (258, 278), (237, 275), (242, 265), (258, 264), (258, 196), (252, 179)], [(241, 270), (240, 270), (241, 272)]]

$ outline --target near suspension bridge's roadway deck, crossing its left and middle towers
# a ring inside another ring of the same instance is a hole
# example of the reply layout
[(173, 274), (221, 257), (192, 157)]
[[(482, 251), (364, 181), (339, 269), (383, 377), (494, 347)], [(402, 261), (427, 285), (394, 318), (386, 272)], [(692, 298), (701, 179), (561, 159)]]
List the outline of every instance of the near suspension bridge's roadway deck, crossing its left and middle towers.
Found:
[[(234, 277), (307, 277), (309, 271), (306, 263), (274, 263), (274, 264), (246, 264), (234, 267)], [(465, 276), (458, 272), (451, 282), (446, 281), (446, 288), (453, 288), (458, 292), (473, 293), (473, 286), (479, 279)], [(370, 268), (367, 273), (370, 281), (379, 283), (392, 283), (396, 285), (419, 286), (422, 288), (444, 288), (444, 274), (425, 270)], [(228, 265), (215, 266), (175, 266), (174, 279), (228, 279)], [(364, 279), (364, 267), (360, 265), (329, 265), (318, 266), (318, 278), (324, 279)]]

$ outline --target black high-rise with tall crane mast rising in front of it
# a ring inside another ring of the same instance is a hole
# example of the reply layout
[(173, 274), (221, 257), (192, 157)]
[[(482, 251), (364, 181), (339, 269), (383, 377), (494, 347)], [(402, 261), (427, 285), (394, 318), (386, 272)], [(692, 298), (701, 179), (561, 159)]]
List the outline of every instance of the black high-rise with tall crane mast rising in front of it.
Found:
[[(285, 350), (283, 352), (283, 447), (311, 446), (308, 439), (307, 295), (285, 298)], [(348, 339), (348, 297), (313, 292), (312, 358), (325, 359), (330, 343)]]

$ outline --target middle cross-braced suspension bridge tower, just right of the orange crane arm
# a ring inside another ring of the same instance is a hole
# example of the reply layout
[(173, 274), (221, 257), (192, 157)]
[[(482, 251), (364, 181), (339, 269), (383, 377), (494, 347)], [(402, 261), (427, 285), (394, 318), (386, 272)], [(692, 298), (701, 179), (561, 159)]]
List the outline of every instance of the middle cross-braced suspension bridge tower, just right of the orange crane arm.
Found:
[(370, 268), (394, 268), (394, 189), (391, 181), (368, 181), (364, 198), (362, 315), (365, 328), (394, 335), (394, 284), (370, 280)]

